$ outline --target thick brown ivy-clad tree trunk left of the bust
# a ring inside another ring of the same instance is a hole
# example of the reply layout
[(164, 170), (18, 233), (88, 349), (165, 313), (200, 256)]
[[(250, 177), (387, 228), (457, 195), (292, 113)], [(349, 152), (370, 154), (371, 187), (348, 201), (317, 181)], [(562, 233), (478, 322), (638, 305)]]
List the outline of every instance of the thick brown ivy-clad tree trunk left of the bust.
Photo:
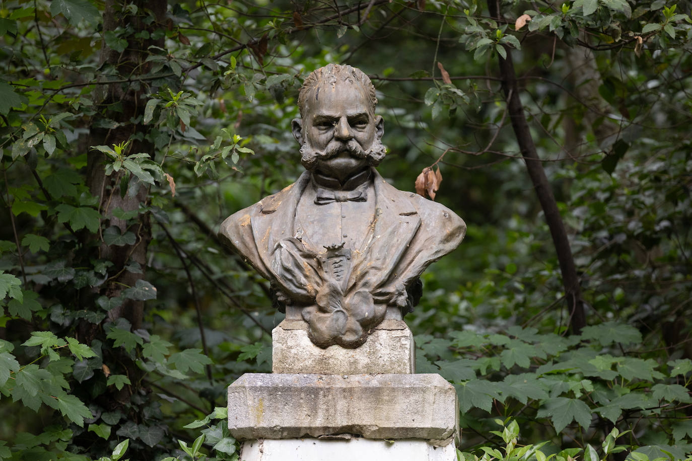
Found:
[[(118, 26), (127, 28), (132, 26), (135, 31), (147, 30), (154, 32), (158, 28), (164, 28), (166, 1), (134, 1), (131, 2), (137, 7), (137, 13), (130, 15), (125, 10), (125, 5), (117, 0), (107, 0), (104, 12), (104, 32), (116, 30)], [(154, 22), (147, 25), (143, 18), (151, 12), (156, 18)], [(134, 35), (134, 34), (133, 34)], [(118, 51), (103, 44), (101, 61), (102, 64), (111, 65), (118, 71), (120, 79), (136, 78), (146, 75), (150, 65), (145, 62), (149, 56), (149, 46), (163, 47), (161, 39), (136, 39), (127, 37), (128, 45), (125, 51)], [(149, 127), (142, 122), (144, 115), (145, 101), (142, 96), (146, 94), (147, 87), (142, 82), (127, 82), (124, 84), (103, 84), (97, 88), (99, 109), (105, 120), (113, 120), (118, 124), (116, 128), (107, 129), (94, 127), (90, 131), (89, 146), (106, 145), (112, 146), (120, 142), (126, 142), (133, 138), (127, 153), (149, 153), (154, 158), (154, 144), (147, 140)], [(133, 123), (132, 120), (138, 120)], [(92, 120), (92, 125), (95, 120)], [(98, 247), (98, 257), (112, 261), (114, 266), (112, 274), (118, 274), (108, 281), (107, 286), (101, 288), (101, 293), (108, 297), (116, 297), (127, 286), (135, 285), (140, 279), (144, 279), (145, 265), (147, 262), (147, 245), (151, 241), (151, 225), (149, 216), (140, 215), (138, 225), (127, 229), (127, 223), (112, 215), (113, 209), (118, 207), (125, 211), (136, 210), (140, 203), (147, 201), (147, 187), (139, 185), (136, 192), (129, 191), (121, 194), (120, 179), (122, 174), (129, 174), (125, 170), (120, 170), (120, 174), (113, 173), (106, 176), (104, 173), (103, 153), (99, 151), (89, 151), (87, 156), (87, 185), (91, 194), (100, 197), (100, 212), (105, 219), (109, 220), (110, 225), (120, 228), (120, 232), (126, 230), (134, 232), (137, 237), (134, 245), (105, 245), (102, 243)], [(142, 273), (129, 272), (122, 270), (125, 265), (136, 262), (140, 265)], [(119, 308), (114, 308), (109, 312), (111, 320), (119, 317), (127, 319), (132, 329), (141, 327), (143, 318), (143, 301), (127, 299)]]

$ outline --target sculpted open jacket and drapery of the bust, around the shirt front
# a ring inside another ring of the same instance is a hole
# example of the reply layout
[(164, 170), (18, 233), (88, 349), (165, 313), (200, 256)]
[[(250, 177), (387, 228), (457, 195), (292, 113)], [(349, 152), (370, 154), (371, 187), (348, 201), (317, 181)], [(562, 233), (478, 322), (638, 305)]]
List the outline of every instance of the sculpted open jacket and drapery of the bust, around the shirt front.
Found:
[(384, 319), (388, 305), (406, 308), (407, 288), (461, 243), (466, 225), (443, 205), (394, 188), (373, 168), (375, 213), (361, 248), (311, 248), (295, 229), (310, 174), (226, 218), (219, 236), (282, 299), (303, 308), (313, 343), (354, 348)]

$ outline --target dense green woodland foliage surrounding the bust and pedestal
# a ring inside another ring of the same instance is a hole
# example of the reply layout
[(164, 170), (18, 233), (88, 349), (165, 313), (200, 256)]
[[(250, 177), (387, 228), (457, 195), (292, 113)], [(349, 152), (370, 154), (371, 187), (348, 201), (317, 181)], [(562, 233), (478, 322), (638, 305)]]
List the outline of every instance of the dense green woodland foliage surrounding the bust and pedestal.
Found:
[(0, 459), (237, 459), (224, 391), (271, 369), (280, 316), (215, 225), (297, 177), (298, 88), (327, 62), (372, 75), (384, 176), (436, 164), (468, 223), (406, 317), (419, 373), (457, 388), (463, 459), (691, 451), (689, 3), (168, 3), (0, 11)]

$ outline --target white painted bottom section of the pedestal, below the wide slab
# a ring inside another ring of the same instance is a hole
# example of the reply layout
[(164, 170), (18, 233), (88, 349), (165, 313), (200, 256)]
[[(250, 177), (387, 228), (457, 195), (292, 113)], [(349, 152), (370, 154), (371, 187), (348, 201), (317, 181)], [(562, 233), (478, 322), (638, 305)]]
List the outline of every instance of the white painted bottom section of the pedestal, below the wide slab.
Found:
[(239, 461), (456, 461), (454, 443), (432, 446), (425, 440), (284, 439), (245, 442)]

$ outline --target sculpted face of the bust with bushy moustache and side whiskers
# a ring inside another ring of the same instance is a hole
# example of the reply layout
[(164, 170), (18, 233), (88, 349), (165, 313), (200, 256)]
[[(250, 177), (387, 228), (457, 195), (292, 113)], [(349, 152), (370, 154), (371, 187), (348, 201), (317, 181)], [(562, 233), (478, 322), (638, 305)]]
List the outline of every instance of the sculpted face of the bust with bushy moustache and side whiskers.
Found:
[(304, 120), (293, 120), (304, 167), (341, 181), (379, 164), (386, 150), (383, 132), (382, 117), (372, 113), (365, 91), (352, 82), (323, 80), (307, 99)]

